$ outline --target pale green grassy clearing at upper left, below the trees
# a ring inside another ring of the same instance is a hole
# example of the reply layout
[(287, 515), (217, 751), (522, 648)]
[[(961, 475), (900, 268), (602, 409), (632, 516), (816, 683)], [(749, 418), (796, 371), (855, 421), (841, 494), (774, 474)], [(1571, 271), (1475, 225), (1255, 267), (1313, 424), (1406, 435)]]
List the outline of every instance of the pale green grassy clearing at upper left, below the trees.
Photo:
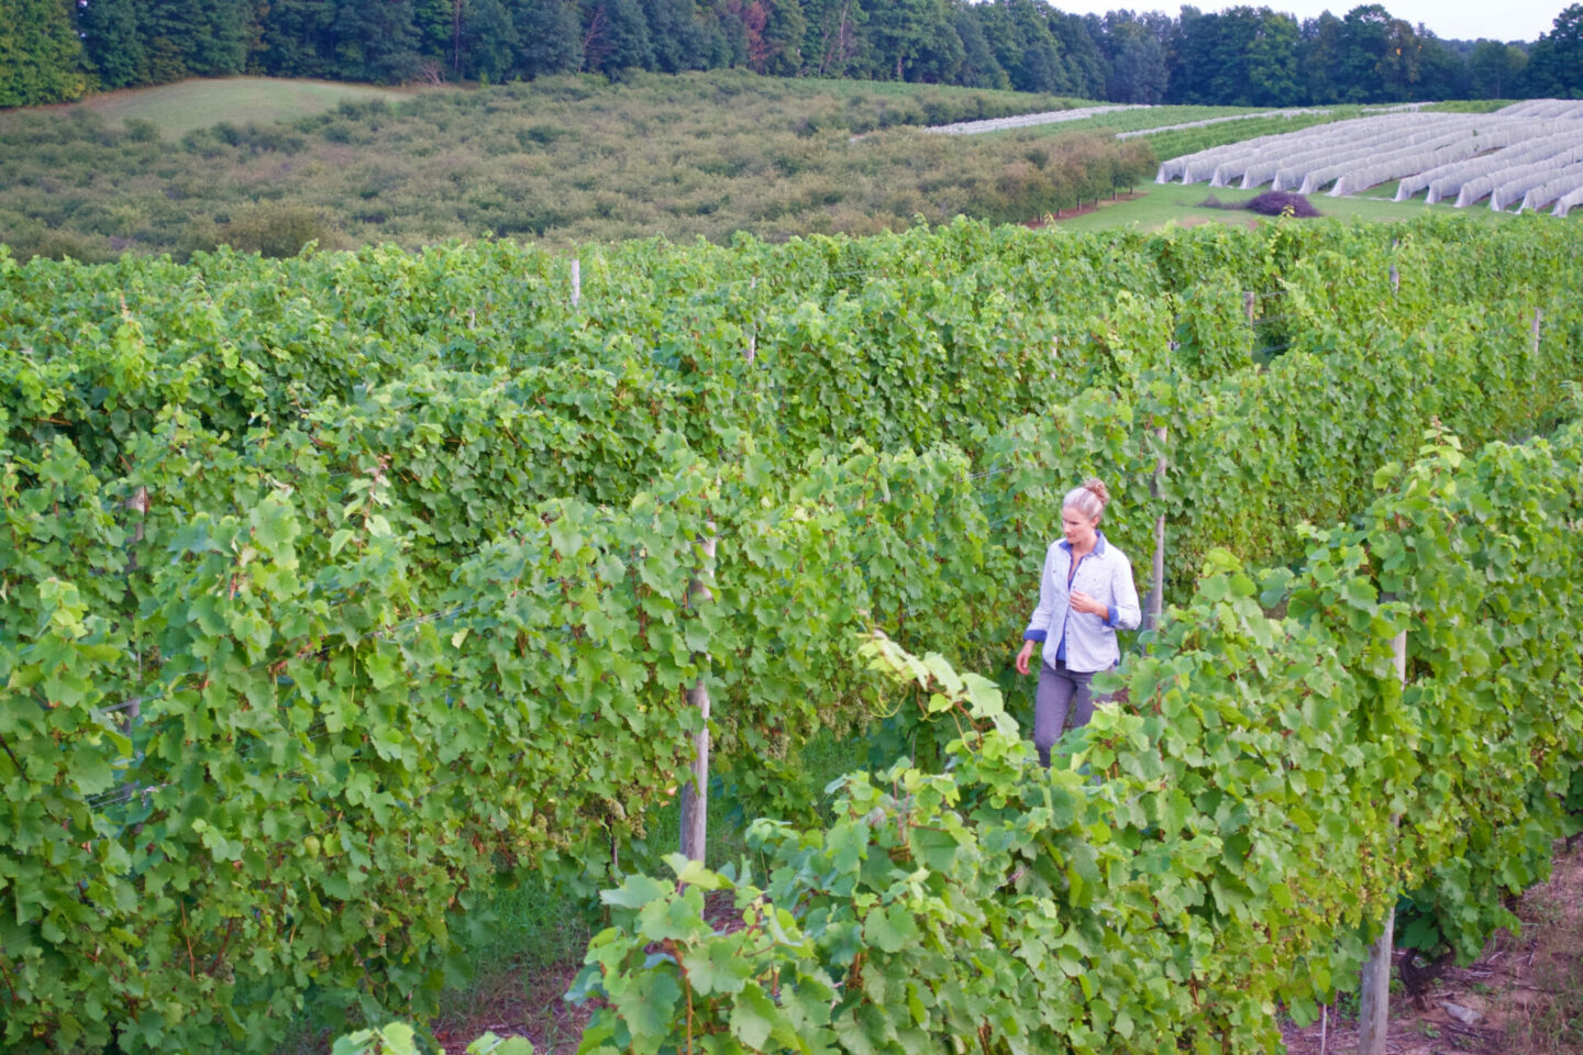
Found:
[(399, 103), (408, 90), (370, 84), (331, 81), (277, 81), (272, 78), (215, 78), (161, 84), (97, 95), (81, 106), (104, 119), (109, 128), (125, 128), (130, 120), (146, 120), (169, 139), (220, 122), (266, 125), (277, 120), (310, 117), (336, 109), (340, 103), (385, 100)]

